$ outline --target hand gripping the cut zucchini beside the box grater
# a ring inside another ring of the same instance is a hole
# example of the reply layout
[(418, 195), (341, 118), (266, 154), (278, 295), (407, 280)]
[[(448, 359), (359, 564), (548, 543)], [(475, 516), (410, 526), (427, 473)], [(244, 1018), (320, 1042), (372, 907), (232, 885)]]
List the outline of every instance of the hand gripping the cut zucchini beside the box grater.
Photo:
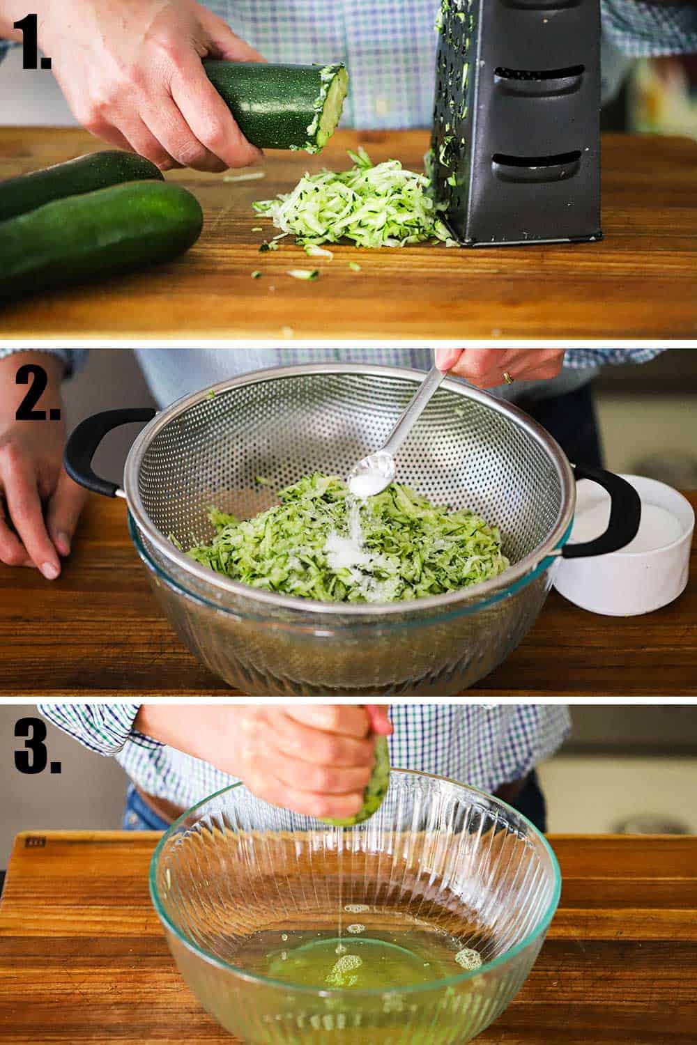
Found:
[(98, 138), (161, 170), (256, 163), (202, 59), (262, 62), (195, 0), (62, 0), (40, 16), (39, 43), (73, 115)]

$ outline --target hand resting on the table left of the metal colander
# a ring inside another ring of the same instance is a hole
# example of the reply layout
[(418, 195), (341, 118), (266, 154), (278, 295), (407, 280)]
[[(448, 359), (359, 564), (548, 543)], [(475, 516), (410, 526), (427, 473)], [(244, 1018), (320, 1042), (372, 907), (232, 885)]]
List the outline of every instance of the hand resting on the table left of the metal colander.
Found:
[(0, 562), (37, 566), (48, 580), (61, 573), (87, 492), (63, 467), (62, 421), (18, 421), (28, 385), (19, 367), (34, 363), (48, 374), (41, 410), (61, 408), (63, 363), (46, 352), (18, 352), (0, 361)]

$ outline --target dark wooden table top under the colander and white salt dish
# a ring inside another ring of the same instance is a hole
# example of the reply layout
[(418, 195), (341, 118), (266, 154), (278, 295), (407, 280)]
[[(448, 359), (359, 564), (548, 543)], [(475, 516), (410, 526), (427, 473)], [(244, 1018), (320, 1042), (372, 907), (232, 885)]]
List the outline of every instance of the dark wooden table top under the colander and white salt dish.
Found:
[[(92, 496), (74, 544), (57, 581), (0, 566), (0, 695), (235, 695), (162, 616), (123, 502)], [(467, 694), (697, 695), (697, 542), (687, 590), (654, 613), (599, 617), (551, 591), (517, 650)]]

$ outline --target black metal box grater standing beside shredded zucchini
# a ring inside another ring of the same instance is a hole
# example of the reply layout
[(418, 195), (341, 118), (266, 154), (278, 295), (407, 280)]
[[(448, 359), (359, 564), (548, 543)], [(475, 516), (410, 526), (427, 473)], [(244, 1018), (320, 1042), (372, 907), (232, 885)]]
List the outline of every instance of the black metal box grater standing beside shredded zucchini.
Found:
[(600, 0), (443, 0), (435, 194), (466, 247), (602, 239)]

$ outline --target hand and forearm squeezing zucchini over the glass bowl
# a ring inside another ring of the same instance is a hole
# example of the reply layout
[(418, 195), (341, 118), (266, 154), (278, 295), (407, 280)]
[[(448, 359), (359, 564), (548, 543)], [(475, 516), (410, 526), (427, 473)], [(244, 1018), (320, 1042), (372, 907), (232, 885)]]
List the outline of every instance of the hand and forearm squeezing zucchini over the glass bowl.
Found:
[(373, 735), (392, 733), (387, 707), (376, 704), (143, 704), (135, 728), (238, 776), (273, 806), (329, 819), (358, 812)]

